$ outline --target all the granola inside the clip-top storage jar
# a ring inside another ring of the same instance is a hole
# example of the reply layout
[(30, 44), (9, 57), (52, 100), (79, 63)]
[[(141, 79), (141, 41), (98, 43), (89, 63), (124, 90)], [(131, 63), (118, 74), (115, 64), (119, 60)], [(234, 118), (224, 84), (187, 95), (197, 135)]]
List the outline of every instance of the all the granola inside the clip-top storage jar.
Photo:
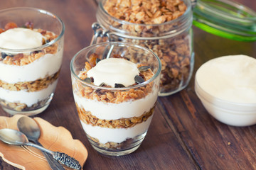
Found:
[[(191, 72), (191, 35), (188, 30), (168, 38), (160, 38), (176, 30), (181, 21), (169, 22), (183, 15), (187, 7), (181, 0), (107, 0), (104, 9), (110, 16), (127, 24), (110, 21), (112, 27), (136, 38), (112, 35), (113, 41), (132, 42), (148, 47), (159, 56), (162, 64), (160, 93), (186, 86)], [(169, 22), (169, 23), (166, 23)], [(156, 24), (156, 25), (151, 25)], [(144, 39), (143, 39), (144, 38)], [(146, 38), (154, 38), (146, 39)]]

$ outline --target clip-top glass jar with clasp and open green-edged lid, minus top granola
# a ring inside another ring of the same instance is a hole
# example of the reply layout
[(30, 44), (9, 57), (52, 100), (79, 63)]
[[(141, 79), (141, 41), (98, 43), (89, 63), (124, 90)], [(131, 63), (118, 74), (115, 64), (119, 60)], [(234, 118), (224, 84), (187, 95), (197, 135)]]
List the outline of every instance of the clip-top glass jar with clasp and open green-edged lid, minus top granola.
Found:
[(255, 12), (232, 1), (183, 0), (185, 13), (174, 20), (164, 23), (156, 21), (155, 24), (131, 23), (115, 18), (105, 10), (106, 1), (99, 2), (97, 23), (92, 25), (95, 38), (103, 38), (94, 38), (92, 43), (106, 40), (133, 42), (153, 50), (162, 64), (159, 96), (181, 91), (191, 79), (194, 65), (192, 23), (224, 38), (256, 40)]

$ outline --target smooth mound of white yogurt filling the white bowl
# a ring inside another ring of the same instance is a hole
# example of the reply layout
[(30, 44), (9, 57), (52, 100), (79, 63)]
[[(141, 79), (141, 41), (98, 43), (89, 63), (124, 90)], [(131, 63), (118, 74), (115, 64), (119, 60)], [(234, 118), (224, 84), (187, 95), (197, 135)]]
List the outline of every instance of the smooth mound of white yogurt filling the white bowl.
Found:
[(203, 64), (196, 80), (208, 94), (225, 101), (256, 103), (256, 59), (245, 55), (218, 57)]

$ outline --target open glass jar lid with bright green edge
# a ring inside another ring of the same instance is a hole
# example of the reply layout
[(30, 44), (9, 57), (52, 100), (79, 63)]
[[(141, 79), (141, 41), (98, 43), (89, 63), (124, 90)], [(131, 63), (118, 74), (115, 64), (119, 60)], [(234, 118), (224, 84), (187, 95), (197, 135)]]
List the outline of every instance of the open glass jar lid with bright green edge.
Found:
[(235, 1), (198, 0), (193, 8), (193, 25), (231, 40), (256, 40), (256, 12)]

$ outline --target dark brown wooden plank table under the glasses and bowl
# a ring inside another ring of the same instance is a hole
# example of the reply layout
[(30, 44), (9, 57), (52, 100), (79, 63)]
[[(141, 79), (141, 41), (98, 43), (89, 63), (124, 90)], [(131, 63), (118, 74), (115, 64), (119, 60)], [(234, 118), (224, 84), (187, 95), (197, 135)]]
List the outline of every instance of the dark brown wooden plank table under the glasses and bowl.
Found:
[[(256, 11), (255, 0), (236, 1)], [(256, 169), (256, 125), (238, 128), (218, 122), (194, 91), (194, 75), (201, 64), (223, 55), (256, 57), (256, 42), (227, 40), (193, 28), (195, 66), (186, 89), (159, 97), (148, 134), (137, 151), (105, 157), (90, 146), (82, 130), (69, 69), (75, 53), (90, 44), (97, 4), (93, 0), (1, 0), (0, 9), (15, 6), (43, 8), (65, 23), (63, 67), (55, 96), (46, 111), (37, 116), (68, 129), (87, 147), (89, 156), (83, 169)], [(0, 115), (10, 116), (2, 109)], [(0, 169), (16, 168), (0, 159)]]

